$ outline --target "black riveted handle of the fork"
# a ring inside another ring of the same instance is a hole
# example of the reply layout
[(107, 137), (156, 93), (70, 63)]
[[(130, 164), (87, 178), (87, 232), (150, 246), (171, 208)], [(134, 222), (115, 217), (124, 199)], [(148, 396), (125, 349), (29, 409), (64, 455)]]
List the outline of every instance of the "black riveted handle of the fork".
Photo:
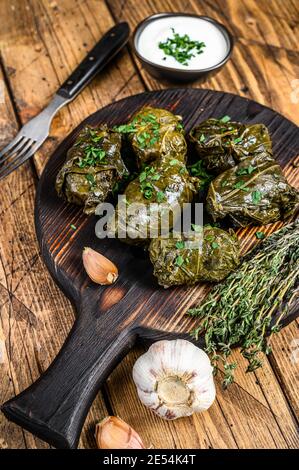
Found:
[(130, 35), (128, 23), (118, 23), (99, 40), (69, 78), (61, 85), (57, 95), (72, 100), (126, 45)]

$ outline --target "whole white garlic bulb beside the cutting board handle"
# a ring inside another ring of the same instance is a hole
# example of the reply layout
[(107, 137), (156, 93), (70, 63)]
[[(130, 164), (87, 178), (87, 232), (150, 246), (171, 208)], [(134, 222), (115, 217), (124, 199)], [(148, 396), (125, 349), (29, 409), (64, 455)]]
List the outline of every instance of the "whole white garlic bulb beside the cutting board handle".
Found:
[(134, 364), (133, 380), (142, 403), (165, 419), (205, 411), (216, 395), (209, 357), (183, 339), (154, 343)]

